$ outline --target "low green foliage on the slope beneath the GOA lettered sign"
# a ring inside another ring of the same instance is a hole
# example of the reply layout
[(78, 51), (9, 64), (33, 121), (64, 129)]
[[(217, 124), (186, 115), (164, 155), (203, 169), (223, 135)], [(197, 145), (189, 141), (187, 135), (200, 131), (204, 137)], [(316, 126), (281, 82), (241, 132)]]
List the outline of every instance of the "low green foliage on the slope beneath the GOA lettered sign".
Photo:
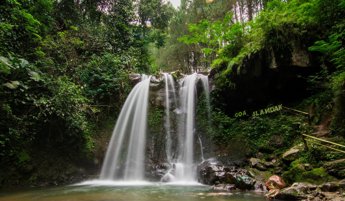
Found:
[[(207, 135), (216, 144), (227, 144), (230, 141), (241, 141), (251, 149), (253, 153), (259, 147), (273, 149), (276, 137), (283, 139), (282, 147), (274, 148), (274, 152), (285, 151), (297, 137), (300, 123), (294, 118), (269, 114), (265, 116), (249, 117), (248, 119), (230, 118), (221, 109), (215, 108), (211, 113), (211, 125), (207, 124), (207, 107), (204, 101), (200, 101), (196, 117), (201, 120), (200, 127), (207, 129)], [(203, 121), (204, 120), (204, 121)]]

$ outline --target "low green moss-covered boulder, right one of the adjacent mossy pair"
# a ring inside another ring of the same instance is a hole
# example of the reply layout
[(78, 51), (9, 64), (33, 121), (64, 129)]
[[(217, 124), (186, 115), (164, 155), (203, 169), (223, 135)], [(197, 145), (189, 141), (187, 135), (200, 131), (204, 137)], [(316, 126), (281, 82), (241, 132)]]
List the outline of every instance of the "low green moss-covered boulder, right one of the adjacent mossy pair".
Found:
[(303, 172), (302, 179), (305, 182), (322, 184), (329, 181), (334, 181), (335, 177), (329, 175), (324, 168), (314, 168), (311, 171)]

